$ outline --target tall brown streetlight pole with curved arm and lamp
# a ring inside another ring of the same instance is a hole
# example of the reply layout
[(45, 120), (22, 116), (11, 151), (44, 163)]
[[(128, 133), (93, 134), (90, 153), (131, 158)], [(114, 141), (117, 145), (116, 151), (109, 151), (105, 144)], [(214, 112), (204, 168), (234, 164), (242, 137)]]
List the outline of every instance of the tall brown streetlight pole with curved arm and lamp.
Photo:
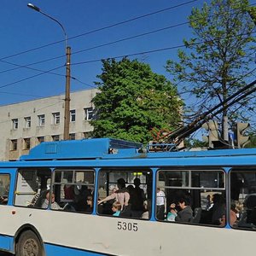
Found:
[(64, 135), (63, 139), (68, 140), (69, 139), (69, 119), (70, 119), (70, 61), (71, 61), (71, 48), (67, 46), (67, 33), (64, 29), (64, 26), (61, 25), (61, 23), (58, 20), (55, 20), (55, 18), (45, 14), (41, 9), (39, 9), (37, 6), (33, 5), (32, 3), (27, 3), (27, 7), (37, 11), (38, 13), (48, 17), (50, 20), (54, 20), (56, 23), (58, 23), (61, 26), (62, 31), (65, 35), (65, 49), (66, 49), (66, 87), (65, 87), (65, 109), (64, 109)]

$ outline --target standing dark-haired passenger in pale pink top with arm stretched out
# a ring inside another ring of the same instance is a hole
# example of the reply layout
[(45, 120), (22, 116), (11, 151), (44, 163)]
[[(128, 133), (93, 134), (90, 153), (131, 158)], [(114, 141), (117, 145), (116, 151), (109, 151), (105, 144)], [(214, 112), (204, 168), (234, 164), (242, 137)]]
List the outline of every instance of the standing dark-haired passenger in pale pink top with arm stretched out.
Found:
[(108, 195), (101, 201), (98, 201), (98, 205), (101, 204), (103, 201), (109, 201), (109, 200), (115, 200), (119, 201), (121, 204), (121, 210), (124, 209), (124, 207), (128, 207), (128, 203), (130, 200), (130, 194), (128, 193), (128, 190), (125, 188), (125, 179), (119, 178), (117, 180), (117, 186), (118, 189), (111, 195)]

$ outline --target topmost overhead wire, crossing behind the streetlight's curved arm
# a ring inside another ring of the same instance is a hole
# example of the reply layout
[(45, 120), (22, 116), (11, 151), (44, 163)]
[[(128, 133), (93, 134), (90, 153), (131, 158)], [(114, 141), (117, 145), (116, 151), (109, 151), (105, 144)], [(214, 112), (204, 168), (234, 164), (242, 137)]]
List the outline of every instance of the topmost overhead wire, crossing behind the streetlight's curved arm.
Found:
[[(177, 4), (177, 5), (168, 7), (168, 8), (166, 8), (166, 9), (160, 9), (160, 10), (158, 10), (158, 11), (154, 11), (154, 12), (149, 13), (149, 14), (146, 14), (146, 15), (140, 15), (140, 16), (137, 16), (137, 17), (135, 17), (135, 18), (131, 18), (131, 19), (129, 19), (129, 20), (123, 20), (123, 21), (120, 21), (120, 22), (118, 22), (118, 23), (114, 23), (114, 24), (109, 25), (109, 26), (103, 26), (103, 27), (101, 27), (101, 28), (97, 28), (97, 29), (92, 30), (92, 31), (90, 31), (90, 32), (84, 32), (84, 33), (79, 34), (79, 35), (77, 35), (77, 36), (73, 36), (73, 37), (71, 37), (71, 38), (67, 38), (67, 40), (71, 40), (71, 39), (74, 39), (74, 38), (83, 37), (83, 36), (86, 36), (86, 35), (89, 35), (89, 34), (95, 33), (95, 32), (100, 32), (100, 31), (102, 31), (102, 30), (106, 30), (106, 29), (112, 28), (112, 27), (114, 27), (114, 26), (120, 26), (120, 25), (123, 25), (123, 24), (125, 24), (125, 23), (129, 23), (129, 22), (134, 21), (134, 20), (143, 19), (143, 18), (148, 17), (148, 16), (151, 16), (151, 15), (157, 15), (157, 14), (166, 12), (166, 11), (168, 11), (168, 10), (170, 10), (170, 9), (177, 9), (177, 8), (179, 8), (179, 7), (182, 7), (182, 6), (187, 5), (187, 4), (189, 4), (189, 3), (195, 3), (195, 2), (197, 2), (197, 1), (198, 1), (198, 0), (191, 0), (191, 1), (188, 1), (188, 2), (185, 2), (185, 3), (179, 3), (179, 4)], [(14, 54), (14, 55), (8, 55), (8, 56), (5, 56), (5, 57), (2, 57), (2, 58), (0, 59), (0, 61), (5, 60), (5, 59), (9, 59), (9, 58), (11, 58), (11, 57), (15, 57), (15, 56), (17, 56), (17, 55), (23, 55), (23, 54), (26, 54), (26, 53), (28, 53), (28, 52), (34, 51), (34, 50), (43, 49), (43, 48), (45, 48), (45, 47), (48, 47), (48, 46), (51, 46), (51, 45), (54, 45), (54, 44), (59, 44), (59, 43), (64, 42), (64, 41), (65, 41), (65, 40), (55, 41), (55, 42), (50, 43), (50, 44), (44, 44), (44, 45), (38, 46), (38, 47), (36, 47), (36, 48), (27, 49), (27, 50), (21, 51), (20, 53), (16, 53), (16, 54)]]

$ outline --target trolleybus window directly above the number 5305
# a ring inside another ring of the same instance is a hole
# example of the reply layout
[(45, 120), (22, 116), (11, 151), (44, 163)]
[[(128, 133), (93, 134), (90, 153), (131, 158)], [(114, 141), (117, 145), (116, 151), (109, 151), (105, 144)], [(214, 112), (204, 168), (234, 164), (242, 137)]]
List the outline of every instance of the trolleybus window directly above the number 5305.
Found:
[(152, 171), (135, 167), (102, 169), (98, 178), (99, 214), (148, 219), (151, 215)]

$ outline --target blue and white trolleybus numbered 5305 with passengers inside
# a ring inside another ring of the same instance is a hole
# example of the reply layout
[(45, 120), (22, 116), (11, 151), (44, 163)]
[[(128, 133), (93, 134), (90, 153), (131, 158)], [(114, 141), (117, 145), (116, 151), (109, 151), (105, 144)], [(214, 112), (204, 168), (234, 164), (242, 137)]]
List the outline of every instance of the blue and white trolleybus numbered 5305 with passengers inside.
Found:
[(17, 256), (253, 255), (256, 148), (41, 143), (0, 163), (0, 203), (0, 250)]

